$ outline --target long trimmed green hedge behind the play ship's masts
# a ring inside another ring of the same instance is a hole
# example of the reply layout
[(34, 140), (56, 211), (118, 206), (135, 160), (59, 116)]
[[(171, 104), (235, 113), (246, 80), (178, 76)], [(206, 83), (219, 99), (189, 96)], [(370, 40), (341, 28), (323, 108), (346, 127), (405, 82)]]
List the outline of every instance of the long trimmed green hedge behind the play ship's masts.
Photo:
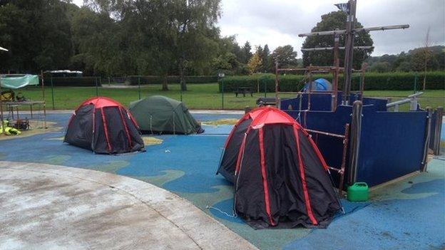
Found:
[[(416, 73), (392, 72), (392, 73), (366, 73), (364, 78), (365, 90), (413, 90)], [(423, 74), (418, 73), (417, 87), (420, 89), (423, 83)], [(280, 75), (280, 91), (294, 92), (300, 91), (305, 84), (304, 75)], [(331, 74), (312, 75), (313, 79), (325, 78), (332, 82)], [(219, 82), (220, 92), (233, 92), (238, 87), (250, 87), (252, 90), (260, 89), (264, 92), (275, 92), (274, 74), (254, 74), (242, 76), (227, 76)], [(344, 83), (343, 76), (339, 77), (339, 89), (342, 89)], [(360, 74), (352, 75), (352, 90), (358, 90), (360, 83)], [(445, 72), (432, 71), (426, 73), (426, 88), (431, 90), (445, 89)]]

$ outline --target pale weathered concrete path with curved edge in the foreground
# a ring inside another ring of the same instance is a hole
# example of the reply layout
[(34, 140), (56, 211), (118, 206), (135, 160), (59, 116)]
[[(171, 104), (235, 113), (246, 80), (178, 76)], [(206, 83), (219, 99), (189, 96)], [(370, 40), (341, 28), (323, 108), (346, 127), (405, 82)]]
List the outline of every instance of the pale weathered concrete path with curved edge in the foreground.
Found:
[(152, 184), (0, 161), (0, 249), (256, 249)]

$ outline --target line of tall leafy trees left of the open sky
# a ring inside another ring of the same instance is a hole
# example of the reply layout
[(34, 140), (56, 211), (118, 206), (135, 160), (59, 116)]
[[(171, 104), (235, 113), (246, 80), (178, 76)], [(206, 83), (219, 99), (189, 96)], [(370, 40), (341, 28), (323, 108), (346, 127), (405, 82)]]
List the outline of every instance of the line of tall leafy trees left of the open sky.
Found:
[[(5, 0), (2, 72), (70, 69), (84, 75), (213, 75), (272, 72), (296, 63), (292, 46), (239, 46), (221, 36), (220, 0)], [(252, 53), (252, 51), (254, 51)], [(183, 89), (185, 89), (185, 84)]]

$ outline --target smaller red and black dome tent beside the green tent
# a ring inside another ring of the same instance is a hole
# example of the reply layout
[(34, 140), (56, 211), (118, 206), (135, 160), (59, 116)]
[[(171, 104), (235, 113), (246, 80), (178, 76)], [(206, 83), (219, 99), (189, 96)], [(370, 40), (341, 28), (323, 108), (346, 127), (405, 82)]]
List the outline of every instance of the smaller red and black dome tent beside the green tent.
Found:
[(105, 97), (90, 98), (76, 109), (63, 141), (101, 154), (144, 148), (131, 113), (120, 103)]

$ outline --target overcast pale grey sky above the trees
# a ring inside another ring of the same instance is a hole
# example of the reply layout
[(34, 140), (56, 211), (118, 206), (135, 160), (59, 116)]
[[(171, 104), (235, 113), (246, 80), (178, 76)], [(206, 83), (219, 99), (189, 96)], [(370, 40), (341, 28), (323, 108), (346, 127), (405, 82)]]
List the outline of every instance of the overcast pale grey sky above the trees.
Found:
[[(219, 21), (223, 36), (236, 35), (240, 44), (267, 44), (271, 50), (290, 44), (301, 57), (304, 38), (322, 14), (347, 0), (222, 0)], [(80, 5), (83, 0), (74, 0)], [(428, 27), (433, 45), (445, 44), (444, 0), (358, 0), (357, 19), (365, 27), (409, 24), (405, 30), (373, 31), (374, 53), (400, 53), (423, 46)]]

